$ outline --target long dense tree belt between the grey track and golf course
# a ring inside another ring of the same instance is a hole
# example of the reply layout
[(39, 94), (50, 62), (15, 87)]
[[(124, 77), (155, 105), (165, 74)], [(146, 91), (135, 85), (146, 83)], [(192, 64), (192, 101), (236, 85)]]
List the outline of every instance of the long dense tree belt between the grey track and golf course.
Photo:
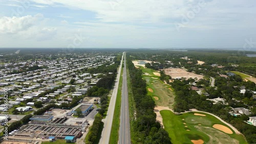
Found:
[(168, 133), (156, 122), (155, 102), (147, 95), (146, 82), (142, 79), (142, 71), (136, 69), (127, 54), (127, 67), (131, 77), (133, 99), (136, 107), (136, 120), (132, 121), (133, 143), (172, 143)]

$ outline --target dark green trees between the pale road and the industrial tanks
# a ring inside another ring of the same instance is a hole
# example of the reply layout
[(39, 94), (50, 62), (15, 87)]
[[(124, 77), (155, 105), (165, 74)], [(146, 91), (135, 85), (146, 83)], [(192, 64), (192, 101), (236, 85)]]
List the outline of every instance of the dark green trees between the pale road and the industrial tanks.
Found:
[(95, 143), (97, 140), (97, 136), (100, 131), (100, 126), (103, 125), (103, 122), (101, 122), (101, 119), (102, 119), (101, 116), (95, 115), (93, 125), (89, 131), (89, 138), (88, 138), (89, 144)]

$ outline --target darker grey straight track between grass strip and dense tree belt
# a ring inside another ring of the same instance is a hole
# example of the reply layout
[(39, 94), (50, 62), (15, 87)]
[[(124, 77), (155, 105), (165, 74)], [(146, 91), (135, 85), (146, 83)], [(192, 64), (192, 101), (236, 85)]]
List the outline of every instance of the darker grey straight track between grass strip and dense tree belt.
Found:
[(125, 56), (124, 56), (124, 67), (123, 67), (123, 83), (122, 83), (122, 102), (121, 102), (121, 113), (120, 113), (119, 143), (120, 144), (129, 144), (129, 143), (131, 143)]

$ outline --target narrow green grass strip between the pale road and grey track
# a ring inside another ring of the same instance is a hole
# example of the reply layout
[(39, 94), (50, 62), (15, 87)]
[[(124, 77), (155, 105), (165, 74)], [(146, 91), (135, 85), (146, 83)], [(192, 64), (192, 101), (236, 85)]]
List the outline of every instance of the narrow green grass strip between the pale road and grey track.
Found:
[(113, 122), (111, 127), (110, 142), (117, 143), (119, 138), (119, 127), (120, 127), (120, 110), (121, 110), (121, 98), (122, 98), (122, 82), (123, 82), (123, 67), (121, 69), (120, 81), (117, 90), (115, 112), (113, 116)]

